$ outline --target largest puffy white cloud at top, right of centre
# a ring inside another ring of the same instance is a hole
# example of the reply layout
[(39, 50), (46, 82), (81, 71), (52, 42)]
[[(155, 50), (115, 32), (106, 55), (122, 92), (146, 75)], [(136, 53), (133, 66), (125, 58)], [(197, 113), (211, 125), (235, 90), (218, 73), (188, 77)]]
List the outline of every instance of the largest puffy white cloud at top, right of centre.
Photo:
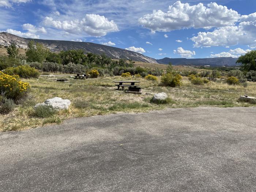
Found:
[(217, 3), (202, 3), (190, 6), (188, 3), (177, 1), (169, 6), (167, 12), (153, 10), (152, 14), (138, 19), (144, 28), (155, 31), (172, 31), (185, 28), (204, 28), (232, 26), (238, 21), (238, 12)]

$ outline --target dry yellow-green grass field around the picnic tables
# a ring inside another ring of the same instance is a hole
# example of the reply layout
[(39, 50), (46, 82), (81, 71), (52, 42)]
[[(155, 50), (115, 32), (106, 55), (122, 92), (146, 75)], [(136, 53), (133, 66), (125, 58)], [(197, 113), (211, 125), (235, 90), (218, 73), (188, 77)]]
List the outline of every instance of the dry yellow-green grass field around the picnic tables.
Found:
[[(239, 102), (240, 95), (256, 96), (256, 83), (249, 82), (248, 87), (241, 85), (230, 86), (224, 82), (210, 82), (202, 86), (191, 84), (184, 77), (182, 86), (162, 87), (158, 82), (140, 80), (142, 95), (124, 93), (116, 90), (113, 80), (122, 80), (121, 77), (105, 77), (87, 80), (75, 80), (67, 76), (69, 82), (56, 82), (56, 78), (41, 76), (37, 79), (23, 79), (31, 85), (31, 98), (17, 106), (5, 115), (0, 115), (0, 131), (11, 131), (37, 127), (49, 123), (61, 123), (72, 117), (87, 117), (96, 114), (117, 112), (148, 112), (149, 110), (168, 108), (184, 108), (197, 106), (256, 106)], [(168, 104), (157, 105), (150, 99), (155, 93), (165, 92), (172, 100)], [(146, 95), (145, 93), (151, 93)], [(68, 110), (60, 111), (51, 117), (39, 118), (35, 116), (33, 106), (46, 99), (61, 97), (69, 99), (71, 106)]]

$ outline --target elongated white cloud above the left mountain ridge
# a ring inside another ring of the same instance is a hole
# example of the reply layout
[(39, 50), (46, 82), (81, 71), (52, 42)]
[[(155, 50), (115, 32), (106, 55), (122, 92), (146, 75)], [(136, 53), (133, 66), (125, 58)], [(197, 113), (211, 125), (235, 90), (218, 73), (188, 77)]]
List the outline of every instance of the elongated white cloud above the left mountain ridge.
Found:
[(45, 17), (43, 24), (66, 31), (71, 34), (88, 34), (95, 37), (101, 37), (109, 32), (118, 31), (118, 27), (113, 20), (109, 21), (105, 16), (86, 14), (82, 20), (53, 20), (51, 17)]

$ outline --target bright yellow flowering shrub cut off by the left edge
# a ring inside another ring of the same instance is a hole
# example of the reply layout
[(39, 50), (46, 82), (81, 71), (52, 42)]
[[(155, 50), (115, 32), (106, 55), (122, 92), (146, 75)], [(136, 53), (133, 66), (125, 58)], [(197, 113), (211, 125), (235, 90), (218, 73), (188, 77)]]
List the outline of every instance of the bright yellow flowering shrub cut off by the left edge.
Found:
[(7, 75), (0, 71), (0, 95), (17, 101), (27, 93), (29, 83), (20, 81), (18, 75)]

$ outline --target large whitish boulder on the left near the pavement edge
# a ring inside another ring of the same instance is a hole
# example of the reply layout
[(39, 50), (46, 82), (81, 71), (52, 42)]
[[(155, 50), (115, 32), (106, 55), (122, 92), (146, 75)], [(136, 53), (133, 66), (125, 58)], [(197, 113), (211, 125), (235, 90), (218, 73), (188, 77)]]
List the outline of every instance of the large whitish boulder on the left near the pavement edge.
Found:
[(47, 105), (47, 106), (52, 106), (53, 109), (68, 109), (69, 105), (71, 102), (68, 99), (61, 99), (60, 97), (54, 97), (52, 99), (47, 99), (45, 100), (44, 103), (38, 103), (37, 105), (34, 106), (34, 108), (37, 108), (38, 106), (41, 105)]

